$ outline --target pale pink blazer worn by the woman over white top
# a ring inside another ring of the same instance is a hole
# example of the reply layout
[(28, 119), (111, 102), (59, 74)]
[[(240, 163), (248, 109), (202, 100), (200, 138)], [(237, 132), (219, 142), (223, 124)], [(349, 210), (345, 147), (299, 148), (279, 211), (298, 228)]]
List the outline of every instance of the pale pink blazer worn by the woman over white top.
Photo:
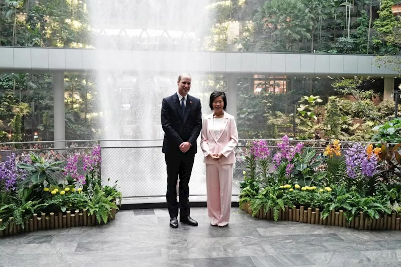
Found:
[[(235, 163), (234, 148), (238, 144), (238, 131), (234, 116), (227, 112), (223, 114), (223, 124), (220, 134), (216, 138), (213, 131), (213, 113), (206, 116), (202, 123), (201, 149), (206, 164), (233, 164)], [(220, 160), (212, 160), (209, 154), (221, 153), (223, 157)]]

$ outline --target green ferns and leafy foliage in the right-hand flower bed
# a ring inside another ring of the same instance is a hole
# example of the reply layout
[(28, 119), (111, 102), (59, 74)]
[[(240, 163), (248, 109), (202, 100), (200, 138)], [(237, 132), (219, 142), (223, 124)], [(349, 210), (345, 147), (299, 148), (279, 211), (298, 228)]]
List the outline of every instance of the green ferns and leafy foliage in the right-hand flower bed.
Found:
[[(245, 176), (241, 183), (240, 206), (250, 202), (253, 216), (259, 214), (261, 208), (264, 212), (273, 210), (275, 220), (285, 206), (319, 208), (323, 219), (332, 210), (342, 210), (348, 223), (360, 212), (369, 220), (391, 212), (401, 214), (398, 204), (401, 202), (401, 144), (388, 146), (383, 143), (381, 151), (372, 151), (370, 147), (371, 153), (379, 153), (379, 171), (367, 177), (358, 168), (354, 170), (356, 177), (350, 178), (344, 156), (340, 156), (340, 144), (336, 142), (328, 147), (331, 150), (325, 150), (324, 158), (318, 156), (312, 147), (296, 153), (294, 160), (282, 162), (271, 173), (276, 179), (269, 183), (263, 179), (255, 183)], [(259, 164), (258, 161), (249, 166)], [(288, 164), (293, 164), (290, 178), (277, 178), (286, 176)], [(244, 173), (253, 172), (246, 170)]]

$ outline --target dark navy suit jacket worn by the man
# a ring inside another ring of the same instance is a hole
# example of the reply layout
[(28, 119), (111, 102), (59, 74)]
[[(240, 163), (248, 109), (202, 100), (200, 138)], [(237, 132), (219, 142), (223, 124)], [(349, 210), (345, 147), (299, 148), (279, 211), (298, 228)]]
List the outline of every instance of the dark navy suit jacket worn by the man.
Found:
[(162, 101), (162, 127), (164, 131), (163, 149), (166, 154), (180, 154), (182, 142), (190, 142), (191, 148), (186, 152), (195, 154), (196, 139), (202, 130), (201, 100), (187, 95), (185, 112), (182, 114), (181, 103), (177, 93), (165, 97)]

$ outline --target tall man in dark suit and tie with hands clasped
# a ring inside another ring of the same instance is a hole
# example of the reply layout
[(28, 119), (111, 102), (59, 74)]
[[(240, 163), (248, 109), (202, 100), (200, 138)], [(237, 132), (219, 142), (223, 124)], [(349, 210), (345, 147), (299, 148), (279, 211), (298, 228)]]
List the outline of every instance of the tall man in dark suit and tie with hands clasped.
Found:
[[(167, 165), (167, 207), (170, 227), (178, 227), (180, 222), (197, 226), (189, 216), (189, 179), (196, 154), (196, 139), (202, 130), (201, 100), (188, 95), (191, 77), (188, 73), (178, 76), (178, 92), (162, 101), (162, 127), (164, 131), (163, 149)], [(177, 203), (177, 180), (179, 197)]]

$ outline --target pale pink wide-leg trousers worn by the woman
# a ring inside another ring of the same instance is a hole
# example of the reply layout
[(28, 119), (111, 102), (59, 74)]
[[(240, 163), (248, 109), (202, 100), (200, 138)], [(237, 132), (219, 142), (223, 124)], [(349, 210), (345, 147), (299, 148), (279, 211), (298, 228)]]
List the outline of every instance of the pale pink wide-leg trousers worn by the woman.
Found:
[(206, 164), (207, 212), (211, 225), (226, 226), (230, 220), (233, 164)]

